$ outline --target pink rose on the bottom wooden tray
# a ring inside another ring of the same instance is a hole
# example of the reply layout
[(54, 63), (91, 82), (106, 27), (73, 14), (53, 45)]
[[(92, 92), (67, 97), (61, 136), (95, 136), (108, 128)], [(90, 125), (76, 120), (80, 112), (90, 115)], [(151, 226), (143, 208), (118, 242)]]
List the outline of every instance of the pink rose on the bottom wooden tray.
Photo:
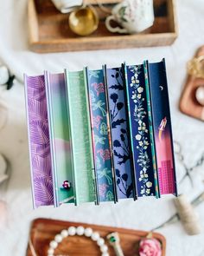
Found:
[(156, 239), (143, 239), (139, 243), (139, 256), (161, 256), (162, 247)]

